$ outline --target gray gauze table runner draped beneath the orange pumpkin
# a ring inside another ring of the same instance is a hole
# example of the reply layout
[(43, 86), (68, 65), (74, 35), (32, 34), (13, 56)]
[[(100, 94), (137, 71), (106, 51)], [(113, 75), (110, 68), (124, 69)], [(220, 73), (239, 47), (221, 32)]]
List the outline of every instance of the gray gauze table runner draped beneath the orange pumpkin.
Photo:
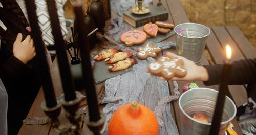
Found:
[[(116, 18), (115, 18), (116, 19)], [(117, 23), (118, 24), (118, 23)], [(120, 27), (116, 26), (116, 27)], [(122, 29), (124, 28), (124, 29)], [(119, 31), (126, 31), (129, 28), (122, 26)], [(109, 35), (111, 32), (109, 31)], [(113, 34), (115, 38), (116, 34)], [(106, 35), (105, 35), (106, 36)], [(136, 56), (135, 48), (126, 47), (124, 44), (118, 44), (121, 50), (132, 50)], [(162, 50), (176, 47), (175, 42), (159, 42), (154, 43), (155, 47), (160, 47)], [(103, 113), (106, 116), (105, 127), (103, 134), (108, 134), (108, 124), (115, 110), (124, 104), (131, 103), (136, 100), (154, 111), (159, 124), (159, 134), (179, 134), (172, 114), (170, 113), (170, 101), (179, 98), (178, 84), (173, 81), (174, 95), (169, 95), (167, 81), (160, 81), (158, 77), (151, 76), (146, 72), (147, 65), (154, 58), (140, 60), (135, 57), (137, 64), (133, 65), (132, 71), (122, 75), (115, 76), (105, 81), (105, 98), (101, 103), (107, 103), (103, 108)], [(172, 85), (172, 84), (170, 84)]]

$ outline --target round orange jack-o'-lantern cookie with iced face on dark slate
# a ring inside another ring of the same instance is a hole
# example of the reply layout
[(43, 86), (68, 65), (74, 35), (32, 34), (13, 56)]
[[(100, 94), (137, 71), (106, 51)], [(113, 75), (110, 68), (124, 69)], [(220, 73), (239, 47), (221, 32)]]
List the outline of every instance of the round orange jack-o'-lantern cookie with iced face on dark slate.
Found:
[(138, 30), (127, 31), (120, 36), (120, 40), (126, 46), (141, 44), (146, 41), (146, 33)]

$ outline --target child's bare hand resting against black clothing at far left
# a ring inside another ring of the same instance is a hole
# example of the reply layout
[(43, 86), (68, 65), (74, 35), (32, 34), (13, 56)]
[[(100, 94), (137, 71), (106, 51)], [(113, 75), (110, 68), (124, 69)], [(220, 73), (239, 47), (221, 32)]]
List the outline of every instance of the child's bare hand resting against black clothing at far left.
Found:
[(35, 55), (34, 41), (28, 35), (24, 41), (22, 41), (22, 34), (18, 33), (15, 42), (13, 43), (13, 55), (26, 64)]

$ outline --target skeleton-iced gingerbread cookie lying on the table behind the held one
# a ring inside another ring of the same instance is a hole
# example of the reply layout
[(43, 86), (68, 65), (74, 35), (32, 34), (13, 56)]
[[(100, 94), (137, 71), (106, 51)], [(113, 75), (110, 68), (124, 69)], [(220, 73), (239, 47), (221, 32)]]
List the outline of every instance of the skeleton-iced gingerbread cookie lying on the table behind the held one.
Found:
[(147, 57), (155, 58), (157, 56), (157, 53), (161, 52), (161, 49), (147, 43), (145, 46), (138, 48), (137, 51), (137, 57), (139, 59), (146, 59)]

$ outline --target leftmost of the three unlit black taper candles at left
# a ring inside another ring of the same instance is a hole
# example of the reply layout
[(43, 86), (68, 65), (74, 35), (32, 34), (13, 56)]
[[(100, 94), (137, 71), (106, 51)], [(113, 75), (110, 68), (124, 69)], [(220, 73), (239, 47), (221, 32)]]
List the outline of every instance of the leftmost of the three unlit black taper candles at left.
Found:
[(44, 89), (44, 95), (47, 107), (54, 107), (57, 104), (52, 79), (49, 70), (49, 64), (46, 59), (46, 47), (41, 38), (41, 31), (38, 25), (38, 19), (36, 16), (36, 5), (34, 0), (25, 1), (28, 11), (28, 17), (30, 26), (32, 29), (32, 38), (34, 40), (34, 46), (36, 50), (36, 57), (38, 58), (38, 64), (40, 64), (40, 71), (42, 76), (42, 88)]

